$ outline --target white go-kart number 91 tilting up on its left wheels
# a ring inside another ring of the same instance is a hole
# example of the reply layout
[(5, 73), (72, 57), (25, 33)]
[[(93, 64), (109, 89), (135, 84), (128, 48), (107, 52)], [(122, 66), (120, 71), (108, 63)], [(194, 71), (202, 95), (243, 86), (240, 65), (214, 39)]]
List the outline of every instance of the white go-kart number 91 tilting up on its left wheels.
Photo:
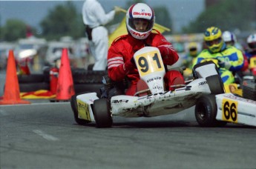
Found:
[[(214, 62), (195, 65), (194, 79), (186, 84), (173, 86), (176, 88), (171, 91), (165, 90), (163, 77), (166, 69), (157, 47), (143, 47), (138, 50), (134, 53), (134, 61), (140, 79), (148, 85), (148, 89), (137, 91), (134, 96), (116, 95), (106, 98), (103, 94), (98, 97), (96, 93), (78, 93), (72, 96), (70, 105), (79, 125), (96, 122), (96, 127), (111, 127), (112, 116), (153, 117), (178, 113), (196, 105), (203, 96), (214, 97), (224, 93), (223, 82)], [(140, 96), (141, 93), (145, 96)], [(211, 105), (211, 102), (209, 104)], [(222, 124), (217, 123), (216, 113), (215, 116), (203, 114), (203, 109), (197, 107), (195, 116), (200, 125), (206, 122), (211, 125)]]

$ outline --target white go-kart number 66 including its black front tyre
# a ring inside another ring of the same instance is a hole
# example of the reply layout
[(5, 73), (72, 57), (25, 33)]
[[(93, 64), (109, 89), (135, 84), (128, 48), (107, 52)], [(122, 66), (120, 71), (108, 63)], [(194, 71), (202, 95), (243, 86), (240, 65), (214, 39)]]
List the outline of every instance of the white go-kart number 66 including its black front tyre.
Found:
[[(209, 59), (208, 59), (209, 61)], [(219, 64), (217, 59), (211, 59), (215, 64)], [(205, 118), (206, 116), (216, 116), (220, 125), (225, 122), (234, 124), (256, 126), (256, 79), (251, 76), (243, 76), (240, 71), (234, 72), (235, 82), (225, 84), (225, 93), (216, 96), (202, 96), (196, 104), (196, 116)], [(201, 113), (200, 113), (201, 112)], [(201, 126), (211, 127), (214, 123), (209, 122), (211, 118), (205, 118), (200, 123)], [(219, 125), (219, 126), (220, 126)]]

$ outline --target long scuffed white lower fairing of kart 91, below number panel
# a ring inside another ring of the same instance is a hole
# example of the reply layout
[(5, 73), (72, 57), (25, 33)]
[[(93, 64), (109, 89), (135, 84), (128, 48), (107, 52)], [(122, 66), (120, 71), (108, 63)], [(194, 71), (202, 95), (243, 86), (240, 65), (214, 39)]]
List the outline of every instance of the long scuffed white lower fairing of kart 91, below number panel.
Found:
[(211, 91), (205, 79), (196, 79), (186, 87), (148, 96), (113, 96), (111, 113), (116, 116), (160, 116), (177, 113), (195, 105), (197, 99)]

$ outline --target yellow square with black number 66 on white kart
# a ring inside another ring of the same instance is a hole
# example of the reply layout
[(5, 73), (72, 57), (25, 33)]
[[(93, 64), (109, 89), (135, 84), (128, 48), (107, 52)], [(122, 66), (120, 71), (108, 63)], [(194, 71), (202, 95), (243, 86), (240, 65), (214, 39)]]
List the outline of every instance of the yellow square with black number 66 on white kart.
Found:
[(223, 99), (222, 102), (222, 119), (226, 122), (237, 123), (237, 101)]

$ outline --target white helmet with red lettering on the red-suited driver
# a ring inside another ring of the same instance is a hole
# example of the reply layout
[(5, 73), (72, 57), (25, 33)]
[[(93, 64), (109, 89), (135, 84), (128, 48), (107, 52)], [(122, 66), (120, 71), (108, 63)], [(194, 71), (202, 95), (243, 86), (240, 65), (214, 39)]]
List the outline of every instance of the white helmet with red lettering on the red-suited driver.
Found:
[[(134, 19), (145, 19), (148, 21), (148, 27), (145, 31), (140, 32), (135, 29)], [(128, 33), (135, 39), (146, 39), (151, 33), (154, 26), (154, 10), (148, 4), (137, 3), (131, 5), (126, 13), (126, 27)]]

